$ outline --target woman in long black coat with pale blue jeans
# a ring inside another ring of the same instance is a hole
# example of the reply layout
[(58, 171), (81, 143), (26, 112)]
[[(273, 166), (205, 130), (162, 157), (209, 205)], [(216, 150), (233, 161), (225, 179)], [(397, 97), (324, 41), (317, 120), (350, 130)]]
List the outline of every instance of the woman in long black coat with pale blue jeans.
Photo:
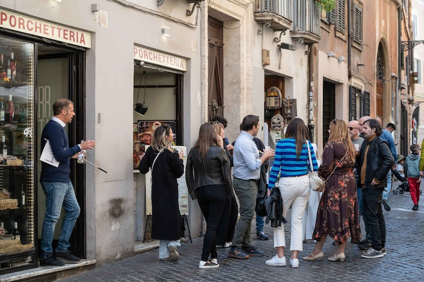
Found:
[(184, 174), (183, 152), (171, 147), (174, 133), (168, 125), (156, 128), (151, 146), (140, 161), (139, 170), (152, 169), (152, 238), (160, 240), (159, 259), (178, 260), (181, 220), (177, 178)]

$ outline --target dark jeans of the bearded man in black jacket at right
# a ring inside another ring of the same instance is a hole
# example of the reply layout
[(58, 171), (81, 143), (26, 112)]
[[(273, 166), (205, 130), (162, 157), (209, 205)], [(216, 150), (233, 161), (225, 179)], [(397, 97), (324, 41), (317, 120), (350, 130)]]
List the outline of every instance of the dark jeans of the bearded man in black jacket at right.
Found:
[(383, 211), (381, 209), (382, 189), (367, 188), (362, 189), (362, 199), (364, 222), (368, 226), (371, 246), (374, 250), (380, 251), (385, 246), (386, 225)]

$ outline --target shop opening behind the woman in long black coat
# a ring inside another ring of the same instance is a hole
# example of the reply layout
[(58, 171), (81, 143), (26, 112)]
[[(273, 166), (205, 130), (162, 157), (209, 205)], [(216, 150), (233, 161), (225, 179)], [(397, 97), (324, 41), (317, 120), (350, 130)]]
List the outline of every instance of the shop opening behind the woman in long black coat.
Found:
[[(146, 200), (145, 176), (138, 170), (138, 165), (151, 144), (155, 129), (159, 125), (170, 125), (174, 132), (173, 145), (184, 144), (183, 77), (183, 72), (175, 69), (134, 61), (134, 241), (142, 242), (150, 238), (151, 213), (148, 211), (151, 208)], [(141, 111), (143, 115), (136, 112), (138, 103), (147, 106), (147, 111)]]

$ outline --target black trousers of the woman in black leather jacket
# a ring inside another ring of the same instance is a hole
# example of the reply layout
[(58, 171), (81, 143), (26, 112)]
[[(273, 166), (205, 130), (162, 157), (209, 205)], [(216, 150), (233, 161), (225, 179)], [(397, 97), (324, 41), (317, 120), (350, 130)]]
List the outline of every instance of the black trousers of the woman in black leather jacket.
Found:
[(217, 259), (216, 253), (216, 227), (224, 209), (227, 198), (225, 184), (207, 185), (196, 189), (197, 202), (206, 220), (206, 234), (203, 239), (201, 260), (207, 262), (209, 254), (211, 259)]

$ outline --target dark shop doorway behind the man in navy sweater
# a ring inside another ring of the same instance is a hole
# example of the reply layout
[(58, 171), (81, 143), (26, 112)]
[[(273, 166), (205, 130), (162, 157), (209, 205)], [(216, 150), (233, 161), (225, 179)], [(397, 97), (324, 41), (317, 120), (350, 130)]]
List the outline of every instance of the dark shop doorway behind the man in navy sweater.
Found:
[[(83, 53), (71, 49), (59, 48), (53, 45), (37, 44), (36, 48), (36, 160), (37, 161), (37, 238), (40, 246), (44, 214), (46, 211), (45, 195), (40, 185), (41, 161), (40, 138), (44, 126), (53, 116), (53, 103), (61, 98), (74, 102), (76, 116), (71, 124), (67, 124), (65, 131), (68, 134), (70, 146), (80, 143), (85, 138), (85, 100), (84, 100), (84, 73)], [(74, 185), (78, 203), (81, 208), (80, 216), (71, 236), (71, 252), (85, 258), (85, 165), (71, 161), (71, 181)], [(59, 238), (64, 211), (56, 225), (53, 247)], [(40, 247), (39, 247), (40, 248)], [(40, 250), (40, 249), (39, 249)]]

